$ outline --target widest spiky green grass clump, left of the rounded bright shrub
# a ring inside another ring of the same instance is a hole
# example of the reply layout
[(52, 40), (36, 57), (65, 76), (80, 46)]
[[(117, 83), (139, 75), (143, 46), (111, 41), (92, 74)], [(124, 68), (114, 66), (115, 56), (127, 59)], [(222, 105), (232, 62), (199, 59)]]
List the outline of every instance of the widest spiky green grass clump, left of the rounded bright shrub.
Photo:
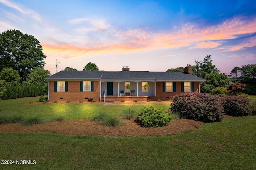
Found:
[(92, 120), (105, 124), (106, 126), (124, 125), (124, 121), (120, 119), (118, 115), (114, 115), (106, 111), (100, 111), (97, 115), (93, 117)]

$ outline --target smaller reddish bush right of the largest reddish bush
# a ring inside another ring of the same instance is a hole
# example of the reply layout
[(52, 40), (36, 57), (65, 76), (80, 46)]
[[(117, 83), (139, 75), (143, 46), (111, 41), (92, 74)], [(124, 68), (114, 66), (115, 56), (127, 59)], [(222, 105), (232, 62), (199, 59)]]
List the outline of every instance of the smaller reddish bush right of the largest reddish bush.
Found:
[(249, 104), (250, 99), (240, 96), (224, 96), (222, 98), (224, 112), (233, 116), (250, 115)]

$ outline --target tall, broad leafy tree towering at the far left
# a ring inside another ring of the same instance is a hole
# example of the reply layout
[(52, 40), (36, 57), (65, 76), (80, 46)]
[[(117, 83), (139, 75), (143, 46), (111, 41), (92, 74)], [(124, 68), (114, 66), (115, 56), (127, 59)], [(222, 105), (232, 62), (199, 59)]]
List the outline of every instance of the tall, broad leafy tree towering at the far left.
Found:
[(18, 30), (0, 34), (0, 71), (11, 67), (18, 71), (21, 81), (24, 81), (33, 68), (44, 66), (45, 58), (42, 46), (32, 35)]

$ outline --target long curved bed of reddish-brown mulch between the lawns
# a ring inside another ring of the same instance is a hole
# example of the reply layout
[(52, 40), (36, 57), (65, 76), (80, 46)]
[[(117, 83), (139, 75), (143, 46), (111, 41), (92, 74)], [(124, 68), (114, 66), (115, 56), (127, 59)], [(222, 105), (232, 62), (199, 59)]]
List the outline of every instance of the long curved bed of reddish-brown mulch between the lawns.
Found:
[(17, 123), (0, 125), (0, 131), (5, 132), (50, 132), (64, 133), (68, 135), (103, 135), (113, 137), (129, 136), (163, 136), (176, 135), (184, 131), (198, 129), (202, 122), (189, 119), (175, 119), (170, 125), (164, 127), (141, 127), (136, 122), (125, 120), (126, 125), (119, 127), (107, 127), (96, 123), (92, 119), (72, 119), (65, 121), (48, 121), (33, 126), (20, 126)]

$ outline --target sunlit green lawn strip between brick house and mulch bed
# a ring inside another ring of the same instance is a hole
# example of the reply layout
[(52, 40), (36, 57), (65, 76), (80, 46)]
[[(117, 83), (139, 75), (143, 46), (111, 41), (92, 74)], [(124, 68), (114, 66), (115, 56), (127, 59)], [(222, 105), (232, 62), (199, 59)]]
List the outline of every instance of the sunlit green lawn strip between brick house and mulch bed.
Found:
[[(22, 98), (14, 100), (0, 101), (0, 115), (19, 114), (23, 117), (39, 115), (44, 121), (64, 117), (65, 119), (86, 119), (92, 118), (100, 111), (108, 111), (119, 114), (125, 109), (126, 105), (103, 105), (99, 104), (36, 104), (39, 97)], [(33, 102), (33, 104), (29, 104)], [(135, 110), (139, 110), (143, 105), (134, 105)], [(169, 109), (170, 105), (154, 105), (156, 108)]]

